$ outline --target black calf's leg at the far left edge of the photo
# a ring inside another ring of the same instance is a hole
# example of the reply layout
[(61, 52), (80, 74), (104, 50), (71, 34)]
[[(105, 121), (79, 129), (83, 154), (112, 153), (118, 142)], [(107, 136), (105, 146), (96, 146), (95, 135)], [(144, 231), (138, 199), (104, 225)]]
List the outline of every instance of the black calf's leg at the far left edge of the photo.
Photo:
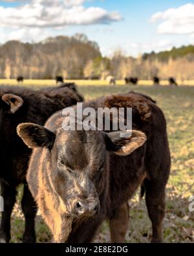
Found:
[(1, 212), (0, 243), (10, 242), (10, 218), (16, 202), (16, 187), (1, 182), (4, 211)]

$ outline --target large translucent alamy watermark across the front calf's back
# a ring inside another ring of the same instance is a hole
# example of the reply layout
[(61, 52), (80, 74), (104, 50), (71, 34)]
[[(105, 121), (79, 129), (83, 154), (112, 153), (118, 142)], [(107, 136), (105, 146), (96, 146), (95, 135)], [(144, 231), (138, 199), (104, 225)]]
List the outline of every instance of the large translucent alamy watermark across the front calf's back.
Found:
[[(94, 108), (83, 109), (83, 104), (78, 102), (76, 108), (65, 108), (62, 111), (63, 130), (106, 130), (123, 131), (120, 137), (128, 137), (132, 130), (132, 108)], [(129, 132), (124, 133), (125, 130)]]

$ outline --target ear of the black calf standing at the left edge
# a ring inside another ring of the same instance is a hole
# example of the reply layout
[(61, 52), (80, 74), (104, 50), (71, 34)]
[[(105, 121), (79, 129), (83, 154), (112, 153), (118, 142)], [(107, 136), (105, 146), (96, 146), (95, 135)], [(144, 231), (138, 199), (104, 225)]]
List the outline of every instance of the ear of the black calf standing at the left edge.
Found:
[(6, 93), (2, 96), (2, 100), (10, 105), (10, 111), (14, 114), (23, 105), (23, 99), (17, 95)]

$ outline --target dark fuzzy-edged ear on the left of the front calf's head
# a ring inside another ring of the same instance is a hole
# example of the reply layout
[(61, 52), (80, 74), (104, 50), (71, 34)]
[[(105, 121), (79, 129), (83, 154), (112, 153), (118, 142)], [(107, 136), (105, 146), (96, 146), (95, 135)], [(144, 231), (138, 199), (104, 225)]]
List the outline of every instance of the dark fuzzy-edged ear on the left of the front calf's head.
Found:
[(29, 148), (38, 148), (45, 146), (52, 149), (56, 135), (50, 132), (44, 126), (32, 124), (30, 122), (19, 124), (17, 126), (17, 134)]

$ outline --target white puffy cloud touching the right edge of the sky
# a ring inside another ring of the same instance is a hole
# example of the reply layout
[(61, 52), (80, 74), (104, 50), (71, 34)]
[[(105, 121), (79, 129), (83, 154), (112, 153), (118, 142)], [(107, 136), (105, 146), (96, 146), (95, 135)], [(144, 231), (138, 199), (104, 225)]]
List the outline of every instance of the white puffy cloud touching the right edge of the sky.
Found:
[(164, 12), (156, 12), (150, 22), (162, 21), (158, 25), (160, 34), (193, 34), (194, 33), (194, 4), (188, 3), (178, 8), (169, 8)]

